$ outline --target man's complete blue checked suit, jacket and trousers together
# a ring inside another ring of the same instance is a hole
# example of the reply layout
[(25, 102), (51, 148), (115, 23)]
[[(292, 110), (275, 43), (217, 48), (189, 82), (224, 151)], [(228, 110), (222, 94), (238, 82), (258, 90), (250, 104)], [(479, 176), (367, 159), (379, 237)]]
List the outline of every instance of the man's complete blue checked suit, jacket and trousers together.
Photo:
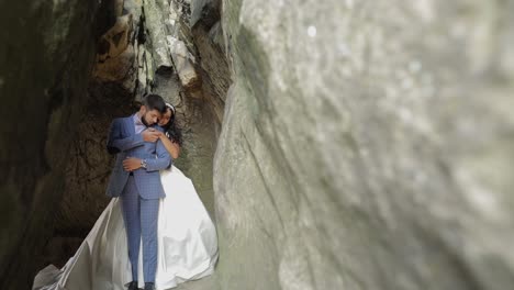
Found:
[[(160, 141), (144, 142), (142, 134), (135, 133), (133, 118), (119, 118), (111, 123), (107, 147), (109, 153), (116, 154), (116, 161), (107, 194), (121, 197), (133, 280), (137, 280), (139, 245), (143, 239), (144, 279), (145, 282), (155, 282), (159, 198), (166, 196), (159, 170), (170, 167), (171, 157)], [(153, 127), (163, 131), (157, 125)], [(136, 169), (132, 175), (125, 171), (122, 163), (126, 157), (145, 159), (146, 169)]]

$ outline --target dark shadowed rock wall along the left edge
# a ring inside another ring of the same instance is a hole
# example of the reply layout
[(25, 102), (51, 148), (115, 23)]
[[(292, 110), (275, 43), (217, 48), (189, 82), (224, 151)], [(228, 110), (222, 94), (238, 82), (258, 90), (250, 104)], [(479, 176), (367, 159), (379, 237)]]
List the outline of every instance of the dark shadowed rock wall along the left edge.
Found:
[(29, 289), (112, 1), (0, 2), (0, 288)]

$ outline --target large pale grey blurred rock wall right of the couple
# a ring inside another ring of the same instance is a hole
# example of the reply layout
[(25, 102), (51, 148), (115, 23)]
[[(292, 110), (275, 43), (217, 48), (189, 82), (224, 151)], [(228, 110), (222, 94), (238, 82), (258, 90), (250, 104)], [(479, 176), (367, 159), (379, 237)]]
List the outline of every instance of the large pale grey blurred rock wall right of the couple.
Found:
[(512, 288), (512, 1), (222, 7), (222, 289)]

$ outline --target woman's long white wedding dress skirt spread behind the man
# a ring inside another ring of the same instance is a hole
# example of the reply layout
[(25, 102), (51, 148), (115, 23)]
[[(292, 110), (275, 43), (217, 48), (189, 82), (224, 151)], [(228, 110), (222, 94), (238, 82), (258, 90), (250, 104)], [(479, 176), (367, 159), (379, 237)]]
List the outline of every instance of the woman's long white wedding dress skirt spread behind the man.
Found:
[[(217, 260), (214, 224), (191, 180), (177, 167), (160, 174), (156, 290), (211, 275)], [(142, 243), (143, 244), (143, 243)], [(139, 288), (144, 288), (139, 249)], [(125, 290), (132, 281), (121, 201), (112, 199), (68, 263), (41, 270), (33, 290)]]

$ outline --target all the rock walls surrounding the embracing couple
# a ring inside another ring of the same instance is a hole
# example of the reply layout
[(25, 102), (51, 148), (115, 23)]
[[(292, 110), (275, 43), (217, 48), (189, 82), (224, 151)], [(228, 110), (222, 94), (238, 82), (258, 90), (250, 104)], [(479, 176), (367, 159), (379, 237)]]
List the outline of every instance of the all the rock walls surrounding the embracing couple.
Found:
[(158, 93), (220, 247), (177, 289), (512, 289), (513, 10), (0, 2), (0, 288), (75, 254), (110, 201), (111, 120)]

